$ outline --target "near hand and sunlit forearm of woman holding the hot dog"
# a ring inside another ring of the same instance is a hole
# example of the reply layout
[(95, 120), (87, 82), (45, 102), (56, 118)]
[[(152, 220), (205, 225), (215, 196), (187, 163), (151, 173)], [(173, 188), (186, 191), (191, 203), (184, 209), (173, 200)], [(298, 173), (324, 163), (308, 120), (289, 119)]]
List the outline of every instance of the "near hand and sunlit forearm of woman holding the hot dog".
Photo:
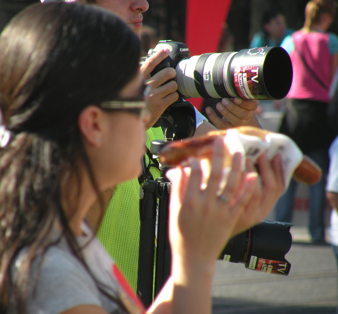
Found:
[(180, 167), (173, 169), (172, 175), (167, 173), (172, 182), (169, 205), (171, 277), (165, 288), (169, 297), (165, 299), (161, 293), (155, 304), (160, 301), (168, 304), (170, 313), (210, 313), (216, 260), (258, 184), (256, 172), (243, 173), (243, 157), (237, 153), (226, 187), (218, 196), (223, 155), (224, 142), (219, 139), (204, 190), (201, 190), (200, 162), (196, 159), (191, 161), (190, 173), (188, 168)]

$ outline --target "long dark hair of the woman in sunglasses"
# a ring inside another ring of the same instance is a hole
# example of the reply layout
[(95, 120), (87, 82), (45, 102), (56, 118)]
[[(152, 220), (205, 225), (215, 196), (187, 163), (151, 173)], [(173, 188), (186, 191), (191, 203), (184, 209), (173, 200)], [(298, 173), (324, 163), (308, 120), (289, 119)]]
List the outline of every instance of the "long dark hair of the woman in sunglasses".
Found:
[[(98, 192), (78, 115), (89, 104), (114, 99), (136, 75), (139, 56), (136, 35), (112, 13), (90, 5), (35, 4), (1, 33), (0, 108), (13, 132), (0, 149), (1, 313), (9, 291), (17, 312), (25, 313), (32, 261), (41, 262), (59, 240), (56, 226), (83, 262), (60, 203), (60, 182), (70, 174), (79, 178), (79, 159)], [(28, 249), (13, 280), (11, 264), (23, 247)]]

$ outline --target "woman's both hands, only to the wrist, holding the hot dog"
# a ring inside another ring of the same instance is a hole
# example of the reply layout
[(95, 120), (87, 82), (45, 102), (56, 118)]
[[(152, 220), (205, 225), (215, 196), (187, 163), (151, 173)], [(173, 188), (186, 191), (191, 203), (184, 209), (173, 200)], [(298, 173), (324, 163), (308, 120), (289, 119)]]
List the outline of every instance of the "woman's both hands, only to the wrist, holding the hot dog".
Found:
[(246, 172), (242, 171), (243, 156), (236, 153), (227, 184), (218, 197), (223, 154), (224, 143), (218, 139), (204, 190), (200, 187), (202, 172), (197, 160), (191, 161), (190, 168), (172, 170), (175, 176), (168, 173), (172, 182), (169, 234), (174, 257), (176, 254), (179, 259), (195, 263), (215, 261), (230, 238), (266, 217), (284, 190), (278, 155), (272, 162), (265, 153), (258, 159), (258, 177), (249, 159)]

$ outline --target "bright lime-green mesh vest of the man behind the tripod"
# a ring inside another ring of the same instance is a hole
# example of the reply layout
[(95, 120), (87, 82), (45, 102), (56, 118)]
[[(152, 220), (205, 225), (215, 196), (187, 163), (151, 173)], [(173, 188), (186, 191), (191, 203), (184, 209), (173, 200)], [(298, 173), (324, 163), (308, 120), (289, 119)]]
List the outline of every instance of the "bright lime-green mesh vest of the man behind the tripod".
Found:
[[(146, 146), (153, 140), (163, 140), (161, 127), (147, 130)], [(146, 163), (149, 159), (146, 155)], [(150, 167), (156, 180), (160, 171)], [(130, 286), (136, 292), (140, 240), (140, 185), (138, 178), (116, 186), (103, 217), (97, 238), (114, 259)]]

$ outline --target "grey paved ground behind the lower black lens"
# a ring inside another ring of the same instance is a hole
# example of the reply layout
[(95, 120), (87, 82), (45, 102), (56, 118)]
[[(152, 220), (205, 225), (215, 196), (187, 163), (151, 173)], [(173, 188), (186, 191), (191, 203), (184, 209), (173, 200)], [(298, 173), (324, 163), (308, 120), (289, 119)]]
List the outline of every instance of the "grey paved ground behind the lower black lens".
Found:
[[(265, 117), (262, 126), (274, 130), (280, 115), (270, 113)], [(267, 218), (274, 220), (273, 216), (272, 212)], [(329, 212), (326, 216), (328, 225)], [(293, 243), (286, 254), (291, 263), (288, 276), (217, 262), (214, 314), (336, 314), (338, 274), (332, 248), (309, 244), (306, 211), (295, 211), (293, 223)]]

